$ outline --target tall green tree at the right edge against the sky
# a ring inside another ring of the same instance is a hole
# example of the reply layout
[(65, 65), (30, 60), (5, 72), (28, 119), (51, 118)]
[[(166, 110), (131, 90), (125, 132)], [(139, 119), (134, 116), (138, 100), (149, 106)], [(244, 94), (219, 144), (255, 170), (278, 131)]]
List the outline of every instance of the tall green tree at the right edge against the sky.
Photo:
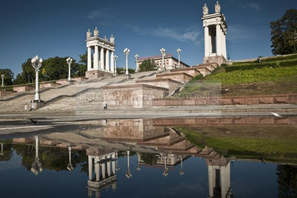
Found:
[(270, 23), (271, 48), (274, 55), (297, 53), (297, 9)]

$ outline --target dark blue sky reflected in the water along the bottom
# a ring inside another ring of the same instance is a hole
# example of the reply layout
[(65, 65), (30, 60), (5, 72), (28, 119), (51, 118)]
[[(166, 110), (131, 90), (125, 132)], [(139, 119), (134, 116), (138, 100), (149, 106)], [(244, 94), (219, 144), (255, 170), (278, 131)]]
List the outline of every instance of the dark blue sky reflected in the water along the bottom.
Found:
[[(127, 179), (127, 158), (119, 158), (117, 190), (101, 192), (102, 198), (207, 198), (208, 179), (205, 159), (190, 157), (183, 162), (185, 174), (179, 174), (180, 164), (169, 170), (167, 177), (162, 168), (141, 167), (136, 170), (137, 155), (130, 157), (132, 177)], [(3, 168), (4, 167), (4, 168)], [(10, 168), (8, 168), (10, 167)], [(1, 197), (30, 198), (86, 198), (88, 175), (73, 171), (44, 170), (38, 176), (21, 166), (21, 157), (14, 153), (8, 162), (0, 162)], [(234, 162), (231, 167), (231, 187), (235, 197), (271, 198), (277, 196), (276, 164)]]

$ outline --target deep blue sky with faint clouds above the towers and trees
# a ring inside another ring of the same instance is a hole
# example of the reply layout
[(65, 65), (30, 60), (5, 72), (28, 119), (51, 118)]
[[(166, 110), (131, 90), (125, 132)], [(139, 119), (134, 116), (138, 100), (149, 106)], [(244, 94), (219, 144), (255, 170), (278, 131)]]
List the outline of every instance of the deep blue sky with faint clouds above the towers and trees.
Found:
[[(202, 62), (202, 6), (214, 12), (215, 0), (1, 0), (0, 68), (21, 72), (21, 64), (42, 58), (72, 56), (86, 51), (86, 32), (115, 37), (117, 66), (125, 64), (123, 49), (135, 57), (159, 55), (166, 49), (189, 65)], [(271, 55), (269, 23), (297, 8), (296, 0), (221, 0), (228, 24), (227, 54), (231, 59)]]

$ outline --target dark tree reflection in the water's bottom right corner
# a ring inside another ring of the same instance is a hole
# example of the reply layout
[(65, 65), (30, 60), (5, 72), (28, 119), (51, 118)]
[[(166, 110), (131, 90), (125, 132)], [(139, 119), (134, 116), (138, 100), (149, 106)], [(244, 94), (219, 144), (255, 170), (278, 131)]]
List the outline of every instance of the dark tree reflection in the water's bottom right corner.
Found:
[(278, 165), (278, 197), (297, 198), (297, 167), (290, 165)]

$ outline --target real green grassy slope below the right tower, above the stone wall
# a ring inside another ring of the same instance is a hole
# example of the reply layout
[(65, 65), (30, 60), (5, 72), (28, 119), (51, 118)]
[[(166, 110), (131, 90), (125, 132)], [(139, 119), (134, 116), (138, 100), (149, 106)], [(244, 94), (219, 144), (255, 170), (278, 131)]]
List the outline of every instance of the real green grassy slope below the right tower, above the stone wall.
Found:
[[(295, 55), (286, 58), (281, 60), (271, 58), (263, 61), (261, 64), (267, 62), (267, 64), (278, 65), (297, 61)], [(252, 65), (255, 65), (255, 63), (235, 63), (227, 67), (240, 66), (242, 70), (231, 72), (226, 72), (226, 67), (217, 68), (210, 76), (198, 77), (198, 79), (190, 81), (186, 88), (179, 93), (179, 96), (185, 96), (189, 93), (201, 94), (201, 88), (198, 86), (201, 80), (204, 82), (221, 82), (222, 96), (297, 93), (297, 65), (246, 69)]]

